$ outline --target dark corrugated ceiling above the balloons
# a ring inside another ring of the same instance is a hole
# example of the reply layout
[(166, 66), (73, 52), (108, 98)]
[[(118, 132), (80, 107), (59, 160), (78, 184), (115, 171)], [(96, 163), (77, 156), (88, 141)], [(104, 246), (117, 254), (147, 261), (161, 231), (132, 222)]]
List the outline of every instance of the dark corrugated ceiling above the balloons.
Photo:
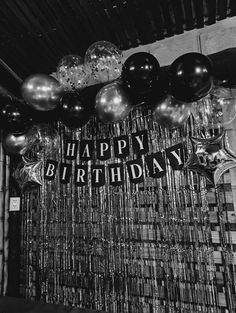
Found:
[(152, 43), (234, 16), (236, 1), (1, 0), (0, 12), (0, 85), (18, 94), (20, 79), (54, 72), (96, 41), (121, 50)]

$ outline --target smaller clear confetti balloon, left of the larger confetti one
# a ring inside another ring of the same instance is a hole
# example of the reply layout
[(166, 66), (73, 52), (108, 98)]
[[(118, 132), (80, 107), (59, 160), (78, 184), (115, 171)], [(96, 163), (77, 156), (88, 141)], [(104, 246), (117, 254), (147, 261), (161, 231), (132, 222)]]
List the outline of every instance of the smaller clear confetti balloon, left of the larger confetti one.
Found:
[(89, 77), (89, 67), (78, 55), (66, 55), (57, 65), (57, 79), (67, 91), (85, 88), (88, 85)]

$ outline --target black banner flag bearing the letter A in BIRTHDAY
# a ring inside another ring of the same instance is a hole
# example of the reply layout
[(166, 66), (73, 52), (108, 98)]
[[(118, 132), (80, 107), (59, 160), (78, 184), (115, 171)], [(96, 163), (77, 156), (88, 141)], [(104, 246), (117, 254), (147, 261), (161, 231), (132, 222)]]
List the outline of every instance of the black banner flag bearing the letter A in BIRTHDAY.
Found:
[(166, 174), (166, 162), (162, 152), (147, 155), (145, 161), (150, 177), (160, 178)]

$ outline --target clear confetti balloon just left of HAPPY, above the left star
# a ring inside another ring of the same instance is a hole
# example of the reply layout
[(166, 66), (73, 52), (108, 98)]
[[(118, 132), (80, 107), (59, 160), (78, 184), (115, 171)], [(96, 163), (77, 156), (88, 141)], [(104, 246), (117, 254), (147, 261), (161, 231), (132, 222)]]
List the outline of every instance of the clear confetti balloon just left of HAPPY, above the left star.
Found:
[(27, 133), (27, 152), (31, 158), (42, 159), (56, 153), (59, 148), (59, 135), (53, 125), (36, 124)]

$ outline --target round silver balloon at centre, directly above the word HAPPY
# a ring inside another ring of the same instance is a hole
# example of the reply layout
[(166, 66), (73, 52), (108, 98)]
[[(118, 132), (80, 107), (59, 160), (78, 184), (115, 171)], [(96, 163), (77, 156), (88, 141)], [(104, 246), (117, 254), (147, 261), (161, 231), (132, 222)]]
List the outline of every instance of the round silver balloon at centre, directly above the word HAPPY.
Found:
[(96, 96), (95, 112), (102, 122), (121, 121), (132, 108), (132, 99), (118, 82), (104, 86)]

